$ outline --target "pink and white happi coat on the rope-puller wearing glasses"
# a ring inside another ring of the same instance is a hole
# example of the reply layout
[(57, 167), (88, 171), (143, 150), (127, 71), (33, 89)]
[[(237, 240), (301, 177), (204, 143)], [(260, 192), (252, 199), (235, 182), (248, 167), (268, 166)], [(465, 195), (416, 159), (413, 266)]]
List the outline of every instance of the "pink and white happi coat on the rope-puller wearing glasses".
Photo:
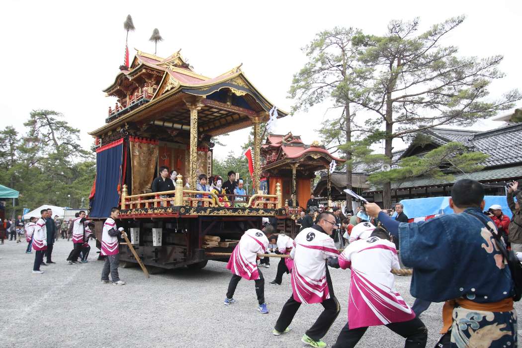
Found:
[(334, 239), (308, 227), (295, 237), (290, 252), (293, 298), (301, 303), (321, 303), (330, 298), (326, 282), (326, 259), (339, 255)]

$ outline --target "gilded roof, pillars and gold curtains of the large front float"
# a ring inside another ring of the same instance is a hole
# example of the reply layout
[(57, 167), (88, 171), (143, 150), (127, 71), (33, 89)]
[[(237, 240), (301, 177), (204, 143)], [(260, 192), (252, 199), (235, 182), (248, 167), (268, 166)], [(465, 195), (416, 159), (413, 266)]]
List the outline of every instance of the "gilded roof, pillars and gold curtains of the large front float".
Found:
[[(251, 126), (257, 144), (254, 187), (259, 189), (260, 123), (268, 120), (274, 104), (240, 66), (209, 78), (195, 73), (179, 51), (167, 58), (137, 51), (103, 91), (116, 102), (106, 124), (89, 134), (96, 137), (97, 152), (124, 138), (129, 155), (122, 168), (130, 172), (122, 185), (129, 195), (145, 193), (161, 165), (189, 178), (194, 190), (199, 174), (212, 174), (211, 137)], [(279, 117), (286, 115), (279, 110)]]

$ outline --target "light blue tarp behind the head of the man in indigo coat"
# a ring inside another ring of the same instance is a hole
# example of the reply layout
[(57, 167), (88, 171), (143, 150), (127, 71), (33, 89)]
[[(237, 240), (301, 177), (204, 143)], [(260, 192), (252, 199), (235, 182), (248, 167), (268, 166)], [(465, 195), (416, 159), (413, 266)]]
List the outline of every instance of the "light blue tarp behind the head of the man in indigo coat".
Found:
[[(484, 210), (488, 210), (492, 205), (498, 204), (502, 207), (504, 215), (511, 219), (513, 214), (507, 206), (506, 196), (484, 196), (484, 200), (486, 201)], [(449, 197), (403, 199), (400, 202), (404, 205), (404, 213), (409, 219), (453, 213), (453, 209), (449, 208)]]

